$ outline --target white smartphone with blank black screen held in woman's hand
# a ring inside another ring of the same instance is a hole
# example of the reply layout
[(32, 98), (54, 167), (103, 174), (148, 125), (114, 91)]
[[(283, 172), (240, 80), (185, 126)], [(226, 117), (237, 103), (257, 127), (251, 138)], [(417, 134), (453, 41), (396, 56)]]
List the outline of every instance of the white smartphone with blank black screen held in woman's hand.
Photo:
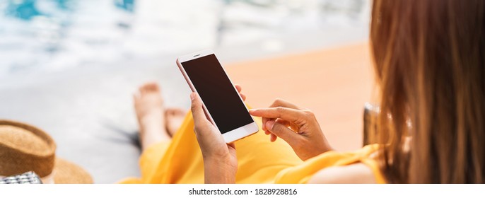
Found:
[(200, 95), (207, 119), (226, 143), (255, 134), (259, 128), (212, 50), (177, 58), (192, 91)]

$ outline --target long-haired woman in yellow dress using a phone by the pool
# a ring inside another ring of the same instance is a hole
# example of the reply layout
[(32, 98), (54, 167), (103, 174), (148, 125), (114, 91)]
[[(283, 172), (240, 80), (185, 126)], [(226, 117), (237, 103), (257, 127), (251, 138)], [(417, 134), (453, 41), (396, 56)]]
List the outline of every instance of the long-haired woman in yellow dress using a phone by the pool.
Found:
[[(192, 93), (192, 115), (173, 140), (146, 146), (141, 179), (124, 182), (485, 182), (484, 35), (485, 1), (375, 0), (370, 45), (380, 90), (376, 144), (332, 151), (312, 112), (276, 100), (250, 110), (262, 117), (262, 130), (274, 143), (259, 132), (237, 141), (236, 149), (224, 143)], [(159, 95), (153, 84), (141, 92)], [(153, 110), (146, 94), (135, 98), (141, 131), (160, 134), (162, 105)], [(158, 117), (146, 119), (140, 109)], [(181, 113), (173, 117), (182, 120)]]

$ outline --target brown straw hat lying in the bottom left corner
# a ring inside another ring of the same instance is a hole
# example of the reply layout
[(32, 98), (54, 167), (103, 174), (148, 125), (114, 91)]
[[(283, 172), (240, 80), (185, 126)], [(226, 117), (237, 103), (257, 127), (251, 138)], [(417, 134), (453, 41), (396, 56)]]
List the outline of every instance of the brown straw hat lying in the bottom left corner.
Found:
[(42, 182), (93, 183), (83, 168), (55, 156), (56, 144), (41, 129), (0, 120), (0, 175), (33, 171)]

